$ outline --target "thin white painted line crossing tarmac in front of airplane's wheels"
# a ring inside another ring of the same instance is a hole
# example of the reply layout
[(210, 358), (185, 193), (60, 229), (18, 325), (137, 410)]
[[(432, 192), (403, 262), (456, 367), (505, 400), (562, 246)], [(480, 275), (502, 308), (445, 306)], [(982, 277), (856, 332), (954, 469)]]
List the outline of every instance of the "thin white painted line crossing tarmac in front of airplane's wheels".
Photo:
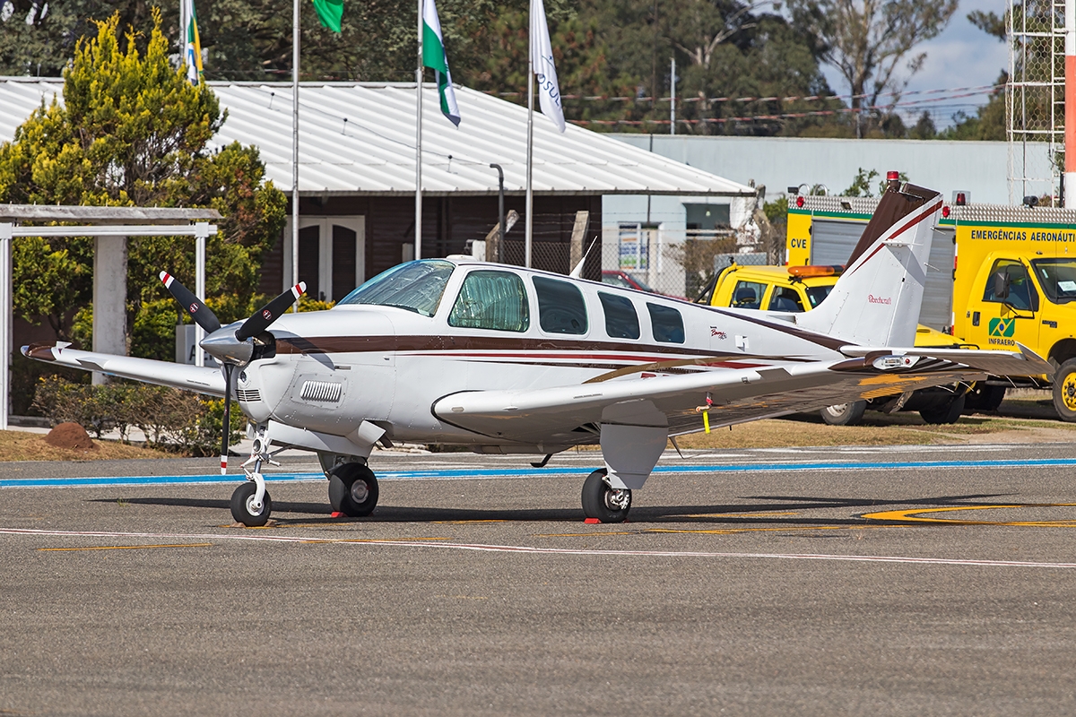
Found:
[[(907, 556), (825, 555), (813, 553), (703, 553), (693, 550), (595, 550), (583, 548), (541, 548), (528, 545), (484, 545), (480, 543), (427, 543), (417, 541), (379, 541), (377, 539), (324, 539), (314, 535), (275, 535), (258, 531), (242, 533), (140, 533), (94, 530), (41, 530), (34, 528), (0, 528), (0, 534), (38, 535), (57, 537), (140, 537), (192, 541), (246, 541), (263, 543), (332, 543), (339, 545), (374, 545), (386, 547), (434, 548), (439, 550), (468, 550), (479, 553), (522, 553), (530, 555), (565, 555), (594, 557), (647, 557), (647, 558), (726, 558), (825, 560), (838, 562), (888, 562), (919, 565), (964, 565), (985, 568), (1061, 568), (1074, 569), (1076, 562), (1032, 562), (1024, 560), (976, 560), (969, 558), (914, 558)], [(600, 534), (595, 532), (595, 534)]]

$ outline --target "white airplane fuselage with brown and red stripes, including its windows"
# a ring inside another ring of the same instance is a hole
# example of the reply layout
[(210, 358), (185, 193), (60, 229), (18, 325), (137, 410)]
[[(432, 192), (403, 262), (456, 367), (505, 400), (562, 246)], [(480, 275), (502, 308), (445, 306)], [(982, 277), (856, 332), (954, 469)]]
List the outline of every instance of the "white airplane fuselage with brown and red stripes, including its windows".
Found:
[[(402, 267), (412, 269), (374, 277), (331, 310), (273, 324), (274, 355), (253, 360), (237, 378), (243, 412), (256, 422), (336, 435), (367, 420), (393, 441), (477, 445), (491, 439), (437, 416), (438, 399), (841, 358), (843, 342), (799, 329), (788, 315), (518, 267)], [(426, 271), (422, 281), (430, 286), (409, 283), (407, 271)], [(408, 299), (414, 305), (402, 305), (402, 295), (417, 297)], [(391, 305), (397, 300), (401, 305)], [(580, 434), (577, 442), (595, 440)]]

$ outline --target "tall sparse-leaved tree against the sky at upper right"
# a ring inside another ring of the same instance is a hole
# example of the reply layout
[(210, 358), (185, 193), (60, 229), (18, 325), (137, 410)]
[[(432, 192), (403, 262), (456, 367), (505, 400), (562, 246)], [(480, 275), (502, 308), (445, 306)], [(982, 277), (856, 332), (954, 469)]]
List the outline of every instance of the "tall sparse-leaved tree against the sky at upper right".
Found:
[[(926, 53), (909, 54), (945, 28), (957, 0), (789, 0), (789, 8), (794, 21), (824, 43), (822, 57), (848, 82), (859, 118), (865, 107), (878, 105), (887, 89), (904, 89), (926, 59)], [(902, 82), (896, 70), (906, 58), (908, 74)], [(860, 125), (856, 135), (862, 135)]]

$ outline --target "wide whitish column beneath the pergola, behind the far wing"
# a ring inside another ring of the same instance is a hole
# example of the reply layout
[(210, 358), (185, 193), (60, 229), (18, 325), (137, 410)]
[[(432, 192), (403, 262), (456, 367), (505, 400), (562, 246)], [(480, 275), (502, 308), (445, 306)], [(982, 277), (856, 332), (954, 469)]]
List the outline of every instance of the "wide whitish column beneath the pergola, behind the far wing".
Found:
[[(94, 350), (127, 355), (127, 238), (94, 239)], [(104, 383), (95, 373), (94, 384)]]

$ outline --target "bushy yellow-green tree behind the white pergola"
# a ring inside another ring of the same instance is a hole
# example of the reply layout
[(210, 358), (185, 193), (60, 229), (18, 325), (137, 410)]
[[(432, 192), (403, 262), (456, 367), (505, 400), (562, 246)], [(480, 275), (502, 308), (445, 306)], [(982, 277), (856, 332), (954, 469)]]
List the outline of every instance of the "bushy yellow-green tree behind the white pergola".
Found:
[[(80, 41), (63, 72), (62, 105), (55, 98), (42, 102), (14, 141), (0, 146), (0, 201), (216, 209), (224, 219), (208, 244), (207, 299), (230, 297), (227, 305), (242, 312), (253, 299), (261, 256), (283, 226), (284, 196), (264, 183), (256, 148), (235, 143), (209, 150), (226, 117), (208, 86), (190, 86), (171, 64), (161, 16), (153, 12), (152, 18), (148, 37), (131, 30), (125, 48), (118, 14)], [(47, 315), (58, 336), (70, 338), (71, 312), (90, 300), (91, 242), (15, 246), (15, 310), (27, 318)], [(162, 298), (156, 278), (162, 269), (194, 276), (188, 238), (128, 241), (129, 332), (155, 326), (154, 335), (162, 333), (161, 321), (143, 315), (160, 311), (154, 302)], [(58, 290), (42, 291), (47, 285)], [(168, 311), (174, 318), (174, 306)], [(144, 342), (142, 353), (170, 357), (171, 336), (158, 338)]]

